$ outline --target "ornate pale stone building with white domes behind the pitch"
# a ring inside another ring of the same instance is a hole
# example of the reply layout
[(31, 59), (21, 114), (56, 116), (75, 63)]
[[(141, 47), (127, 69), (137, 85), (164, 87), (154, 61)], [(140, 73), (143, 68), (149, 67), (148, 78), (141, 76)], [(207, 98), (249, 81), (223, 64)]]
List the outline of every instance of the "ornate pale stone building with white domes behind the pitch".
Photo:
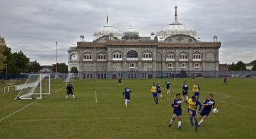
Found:
[(68, 50), (69, 71), (76, 67), (79, 78), (160, 78), (191, 75), (219, 76), (217, 36), (213, 42), (201, 42), (195, 30), (177, 19), (156, 34), (140, 37), (133, 27), (123, 33), (108, 23), (93, 34), (93, 42), (84, 36)]

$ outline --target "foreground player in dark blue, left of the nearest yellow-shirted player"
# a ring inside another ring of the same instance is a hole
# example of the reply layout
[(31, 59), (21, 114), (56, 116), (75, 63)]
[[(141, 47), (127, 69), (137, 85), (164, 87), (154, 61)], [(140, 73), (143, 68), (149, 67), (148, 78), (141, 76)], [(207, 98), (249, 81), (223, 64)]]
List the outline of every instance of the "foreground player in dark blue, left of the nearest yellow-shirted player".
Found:
[(179, 122), (178, 122), (178, 129), (180, 130), (180, 125), (181, 125), (181, 116), (182, 116), (182, 99), (180, 99), (180, 94), (176, 94), (176, 99), (173, 100), (172, 102), (172, 107), (173, 109), (173, 116), (172, 119), (170, 121), (169, 124), (169, 128), (172, 126), (173, 121), (175, 120), (175, 118), (179, 118)]

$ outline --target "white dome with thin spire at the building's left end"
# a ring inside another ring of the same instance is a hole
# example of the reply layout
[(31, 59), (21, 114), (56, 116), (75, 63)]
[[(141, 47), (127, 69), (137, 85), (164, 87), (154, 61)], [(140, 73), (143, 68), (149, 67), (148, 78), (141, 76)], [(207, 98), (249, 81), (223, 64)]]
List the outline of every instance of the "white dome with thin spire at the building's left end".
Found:
[(122, 33), (118, 29), (111, 27), (111, 25), (109, 25), (108, 22), (109, 19), (107, 17), (107, 25), (98, 28), (98, 30), (96, 30), (95, 33), (93, 33), (93, 37), (95, 38), (95, 40), (99, 39), (100, 37), (109, 36), (110, 34), (112, 34), (113, 37), (121, 39)]

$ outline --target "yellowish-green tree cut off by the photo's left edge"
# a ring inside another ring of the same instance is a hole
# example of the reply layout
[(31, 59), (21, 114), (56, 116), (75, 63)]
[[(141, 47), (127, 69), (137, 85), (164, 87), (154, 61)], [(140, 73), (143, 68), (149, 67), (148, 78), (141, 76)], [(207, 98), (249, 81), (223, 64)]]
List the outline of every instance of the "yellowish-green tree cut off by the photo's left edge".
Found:
[(0, 35), (0, 73), (2, 73), (3, 69), (5, 68), (5, 62), (6, 62), (6, 56), (4, 55), (5, 51), (6, 51), (6, 43), (5, 43), (4, 37), (1, 37)]

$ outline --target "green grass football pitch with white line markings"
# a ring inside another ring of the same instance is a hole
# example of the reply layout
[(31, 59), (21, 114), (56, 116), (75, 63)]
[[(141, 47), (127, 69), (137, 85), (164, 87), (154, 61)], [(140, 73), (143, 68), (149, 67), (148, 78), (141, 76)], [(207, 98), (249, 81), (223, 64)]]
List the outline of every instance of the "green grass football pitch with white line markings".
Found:
[[(167, 79), (76, 80), (72, 83), (77, 99), (65, 99), (63, 80), (51, 80), (51, 94), (43, 99), (14, 100), (18, 92), (0, 94), (0, 138), (256, 138), (256, 78), (170, 78)], [(200, 125), (191, 126), (187, 104), (182, 103), (182, 125), (171, 128), (175, 94), (182, 93), (187, 80), (189, 98), (197, 81), (199, 101), (213, 94), (217, 114)], [(152, 82), (160, 82), (164, 99), (154, 104)], [(124, 106), (123, 89), (131, 88), (131, 100)]]

